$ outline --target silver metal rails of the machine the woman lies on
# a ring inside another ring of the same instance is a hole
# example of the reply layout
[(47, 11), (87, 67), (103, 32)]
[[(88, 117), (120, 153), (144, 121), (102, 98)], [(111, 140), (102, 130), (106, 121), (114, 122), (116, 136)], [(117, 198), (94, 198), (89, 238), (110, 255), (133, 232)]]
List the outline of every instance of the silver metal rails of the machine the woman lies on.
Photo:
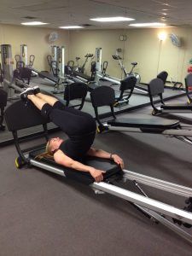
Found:
[[(49, 172), (54, 172), (65, 177), (65, 172), (59, 167), (49, 166), (48, 164), (41, 163), (38, 160), (32, 159), (30, 159), (29, 162), (32, 166), (37, 166)], [(150, 187), (162, 189), (175, 195), (181, 195), (186, 197), (192, 196), (191, 188), (184, 187), (175, 183), (169, 183), (154, 177), (148, 177), (142, 174), (138, 174), (136, 172), (131, 172), (127, 170), (124, 170), (123, 172), (123, 178), (125, 179), (125, 181), (138, 181)], [(125, 201), (133, 203), (133, 205), (140, 209), (143, 213), (146, 213), (146, 215), (149, 215), (152, 219), (160, 222), (160, 224), (165, 225), (167, 228), (177, 233), (177, 235), (182, 236), (186, 241), (192, 243), (192, 236), (188, 232), (181, 229), (176, 224), (173, 224), (171, 221), (163, 216), (165, 214), (171, 218), (176, 218), (184, 223), (192, 224), (192, 212), (183, 211), (181, 209), (178, 209), (177, 207), (172, 207), (171, 205), (168, 205), (166, 203), (156, 201), (144, 195), (139, 195), (127, 189), (121, 189), (118, 186), (106, 182), (91, 183), (90, 188), (94, 189), (96, 191), (96, 194), (101, 194), (98, 193), (98, 191), (102, 191), (104, 193), (115, 195), (119, 198), (125, 199)]]

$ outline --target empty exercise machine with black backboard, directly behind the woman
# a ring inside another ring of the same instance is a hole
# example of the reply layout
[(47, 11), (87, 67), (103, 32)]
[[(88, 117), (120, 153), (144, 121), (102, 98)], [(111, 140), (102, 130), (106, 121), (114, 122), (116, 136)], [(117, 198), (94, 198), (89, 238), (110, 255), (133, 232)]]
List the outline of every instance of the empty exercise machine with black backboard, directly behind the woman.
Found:
[[(160, 80), (161, 81), (161, 80)], [(184, 143), (192, 145), (192, 126), (181, 125), (178, 120), (170, 119), (137, 119), (137, 118), (116, 118), (113, 111), (115, 102), (114, 90), (108, 86), (100, 86), (90, 92), (92, 106), (96, 113), (96, 120), (99, 124), (97, 131), (127, 131), (127, 132), (143, 132), (152, 134), (162, 134), (170, 137), (176, 137)], [(99, 118), (98, 109), (102, 106), (111, 108), (113, 119), (102, 124)]]

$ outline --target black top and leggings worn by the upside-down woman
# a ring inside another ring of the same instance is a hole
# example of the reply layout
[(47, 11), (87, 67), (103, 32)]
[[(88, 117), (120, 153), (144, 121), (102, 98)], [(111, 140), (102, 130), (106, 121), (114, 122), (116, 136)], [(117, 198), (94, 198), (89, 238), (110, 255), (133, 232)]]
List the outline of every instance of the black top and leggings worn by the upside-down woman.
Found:
[(63, 107), (59, 101), (54, 106), (45, 103), (41, 113), (67, 134), (59, 149), (73, 160), (82, 160), (96, 136), (95, 119), (89, 113)]

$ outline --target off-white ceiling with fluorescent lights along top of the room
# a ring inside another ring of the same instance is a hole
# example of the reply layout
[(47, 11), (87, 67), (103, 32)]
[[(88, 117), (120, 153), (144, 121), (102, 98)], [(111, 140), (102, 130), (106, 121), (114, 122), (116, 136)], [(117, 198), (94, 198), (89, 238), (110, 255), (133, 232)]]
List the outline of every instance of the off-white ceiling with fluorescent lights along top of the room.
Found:
[[(96, 22), (90, 18), (125, 16), (133, 22), (192, 26), (191, 0), (1, 0), (0, 23), (40, 20), (45, 27), (87, 25), (86, 29), (131, 28), (131, 21)], [(28, 17), (28, 18), (27, 18)], [(165, 21), (164, 21), (165, 20)], [(90, 26), (89, 26), (90, 25)]]

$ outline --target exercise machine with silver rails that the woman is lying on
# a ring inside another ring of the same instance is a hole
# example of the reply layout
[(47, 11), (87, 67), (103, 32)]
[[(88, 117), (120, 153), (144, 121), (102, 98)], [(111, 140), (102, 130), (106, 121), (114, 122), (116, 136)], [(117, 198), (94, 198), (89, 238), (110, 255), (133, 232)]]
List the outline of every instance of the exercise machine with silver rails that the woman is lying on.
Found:
[[(22, 119), (17, 118), (19, 114)], [(13, 137), (15, 138), (15, 147), (19, 154), (19, 157), (15, 161), (18, 167), (23, 165), (37, 166), (46, 171), (54, 172), (63, 177), (73, 178), (81, 183), (90, 185), (90, 188), (94, 189), (96, 194), (106, 192), (119, 198), (125, 199), (125, 201), (131, 202), (134, 207), (137, 207), (137, 209), (140, 212), (143, 212), (143, 214), (148, 218), (166, 225), (166, 227), (175, 231), (178, 235), (192, 243), (192, 236), (189, 233), (187, 233), (185, 230), (182, 230), (176, 224), (173, 224), (171, 221), (165, 218), (167, 215), (171, 218), (182, 221), (182, 223), (191, 225), (192, 213), (183, 211), (177, 207), (172, 207), (171, 205), (165, 204), (161, 201), (150, 199), (144, 193), (143, 189), (138, 185), (138, 182), (147, 184), (148, 186), (154, 187), (156, 189), (166, 190), (167, 192), (173, 193), (175, 195), (182, 195), (184, 197), (191, 197), (192, 189), (174, 183), (168, 183), (154, 177), (144, 176), (127, 170), (120, 170), (119, 166), (114, 164), (111, 160), (87, 158), (84, 161), (84, 164), (94, 166), (98, 169), (106, 171), (104, 174), (103, 182), (96, 183), (93, 177), (91, 177), (87, 172), (77, 172), (73, 169), (57, 165), (53, 160), (47, 160), (45, 158), (42, 160), (36, 159), (35, 157), (38, 154), (44, 152), (44, 146), (42, 145), (38, 145), (33, 148), (20, 148), (20, 138), (18, 137), (18, 131), (21, 129), (33, 127), (35, 125), (43, 126), (45, 142), (48, 141), (48, 120), (44, 119), (41, 116), (39, 110), (35, 108), (30, 102), (28, 102), (28, 104), (25, 104), (25, 102), (21, 101), (14, 102), (9, 106), (9, 108), (6, 109), (5, 119), (9, 131), (12, 131)], [(119, 180), (124, 182), (129, 180), (133, 181), (142, 195), (133, 193), (129, 189), (122, 189), (120, 187)], [(117, 183), (117, 185), (113, 185), (113, 182)]]

